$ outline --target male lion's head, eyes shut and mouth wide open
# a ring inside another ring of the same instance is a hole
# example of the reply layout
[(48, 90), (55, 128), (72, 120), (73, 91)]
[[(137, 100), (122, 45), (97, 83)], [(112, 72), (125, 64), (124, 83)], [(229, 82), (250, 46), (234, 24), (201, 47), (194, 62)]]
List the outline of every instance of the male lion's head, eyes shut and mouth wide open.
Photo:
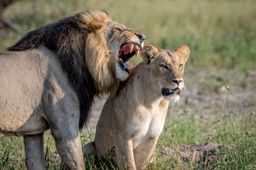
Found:
[[(87, 39), (87, 50), (90, 52), (87, 53), (102, 52), (102, 55), (109, 56), (101, 59), (109, 61), (108, 68), (114, 70), (117, 79), (125, 80), (129, 76), (128, 62), (133, 55), (139, 55), (145, 35), (112, 21), (110, 16), (102, 11), (87, 10), (81, 13), (79, 18), (81, 27), (91, 31)], [(101, 49), (95, 50), (96, 46), (100, 46)], [(99, 68), (95, 65), (89, 67)]]

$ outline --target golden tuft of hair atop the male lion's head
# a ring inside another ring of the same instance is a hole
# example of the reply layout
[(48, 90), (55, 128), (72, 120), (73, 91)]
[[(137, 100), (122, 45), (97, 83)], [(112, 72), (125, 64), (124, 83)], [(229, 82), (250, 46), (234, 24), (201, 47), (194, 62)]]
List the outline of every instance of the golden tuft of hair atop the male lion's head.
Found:
[(108, 13), (97, 10), (86, 10), (78, 14), (78, 26), (89, 31), (96, 31), (102, 28), (108, 21), (111, 21)]

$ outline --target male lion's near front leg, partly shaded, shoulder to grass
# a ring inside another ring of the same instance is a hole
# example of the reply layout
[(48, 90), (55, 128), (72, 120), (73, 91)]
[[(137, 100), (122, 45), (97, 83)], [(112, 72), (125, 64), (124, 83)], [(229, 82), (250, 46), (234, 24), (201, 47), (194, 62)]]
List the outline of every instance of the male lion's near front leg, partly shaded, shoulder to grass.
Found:
[[(58, 73), (55, 73), (56, 75)], [(55, 140), (56, 149), (68, 169), (85, 169), (79, 133), (78, 96), (66, 81), (52, 74), (43, 95), (45, 118)]]

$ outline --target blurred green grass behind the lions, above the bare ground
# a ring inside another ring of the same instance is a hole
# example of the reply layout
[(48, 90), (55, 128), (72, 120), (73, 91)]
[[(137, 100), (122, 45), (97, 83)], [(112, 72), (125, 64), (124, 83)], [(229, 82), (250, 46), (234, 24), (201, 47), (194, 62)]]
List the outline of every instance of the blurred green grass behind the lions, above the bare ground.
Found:
[[(142, 32), (145, 44), (167, 49), (186, 44), (191, 51), (187, 65), (242, 71), (256, 66), (254, 0), (20, 0), (2, 16), (27, 32), (88, 8), (105, 10), (115, 21)], [(5, 31), (0, 51), (21, 37)]]

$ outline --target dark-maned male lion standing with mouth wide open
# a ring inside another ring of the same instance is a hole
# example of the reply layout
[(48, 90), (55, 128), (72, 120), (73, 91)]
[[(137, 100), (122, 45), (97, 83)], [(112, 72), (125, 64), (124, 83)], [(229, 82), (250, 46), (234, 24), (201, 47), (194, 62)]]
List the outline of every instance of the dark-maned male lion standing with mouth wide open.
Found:
[(50, 128), (68, 169), (85, 169), (79, 128), (93, 97), (114, 91), (145, 36), (86, 10), (26, 34), (0, 52), (0, 136), (24, 136), (27, 169), (45, 169)]

